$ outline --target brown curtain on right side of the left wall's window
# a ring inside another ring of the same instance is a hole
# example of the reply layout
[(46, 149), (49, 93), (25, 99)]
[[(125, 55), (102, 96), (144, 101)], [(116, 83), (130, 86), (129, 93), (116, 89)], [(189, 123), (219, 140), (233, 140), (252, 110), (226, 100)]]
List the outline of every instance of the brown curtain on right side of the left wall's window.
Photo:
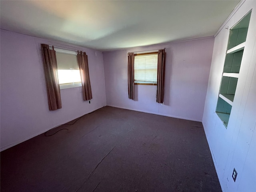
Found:
[(80, 70), (84, 100), (92, 99), (92, 88), (88, 68), (88, 56), (85, 52), (78, 51), (78, 66)]

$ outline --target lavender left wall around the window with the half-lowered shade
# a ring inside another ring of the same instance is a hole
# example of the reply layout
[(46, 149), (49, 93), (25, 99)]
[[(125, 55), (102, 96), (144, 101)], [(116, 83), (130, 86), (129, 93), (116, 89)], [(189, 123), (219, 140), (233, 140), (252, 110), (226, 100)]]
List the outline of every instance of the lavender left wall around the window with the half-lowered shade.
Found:
[[(102, 52), (66, 46), (1, 30), (1, 150), (106, 105)], [(91, 104), (82, 88), (61, 90), (62, 109), (49, 111), (40, 44), (86, 51), (92, 86)], [(97, 55), (97, 56), (96, 56)]]

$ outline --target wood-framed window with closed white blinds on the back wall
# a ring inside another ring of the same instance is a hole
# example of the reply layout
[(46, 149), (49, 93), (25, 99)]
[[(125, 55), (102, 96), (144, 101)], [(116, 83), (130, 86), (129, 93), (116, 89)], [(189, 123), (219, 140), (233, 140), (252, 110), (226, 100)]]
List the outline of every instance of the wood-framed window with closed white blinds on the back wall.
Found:
[(134, 54), (134, 83), (157, 84), (158, 52)]

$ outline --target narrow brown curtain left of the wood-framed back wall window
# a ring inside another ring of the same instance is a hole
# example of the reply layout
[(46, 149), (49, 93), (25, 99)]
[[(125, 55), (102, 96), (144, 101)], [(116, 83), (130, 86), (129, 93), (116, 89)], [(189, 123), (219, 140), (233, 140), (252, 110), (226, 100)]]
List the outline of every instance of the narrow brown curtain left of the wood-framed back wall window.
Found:
[(128, 53), (128, 95), (134, 98), (134, 53)]

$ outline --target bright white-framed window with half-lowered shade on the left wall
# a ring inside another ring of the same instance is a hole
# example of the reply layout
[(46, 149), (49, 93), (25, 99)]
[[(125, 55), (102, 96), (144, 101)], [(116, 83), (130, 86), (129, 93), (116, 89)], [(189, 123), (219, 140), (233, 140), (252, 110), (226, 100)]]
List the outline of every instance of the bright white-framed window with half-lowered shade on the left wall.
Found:
[(76, 52), (57, 48), (55, 51), (60, 89), (82, 86)]

